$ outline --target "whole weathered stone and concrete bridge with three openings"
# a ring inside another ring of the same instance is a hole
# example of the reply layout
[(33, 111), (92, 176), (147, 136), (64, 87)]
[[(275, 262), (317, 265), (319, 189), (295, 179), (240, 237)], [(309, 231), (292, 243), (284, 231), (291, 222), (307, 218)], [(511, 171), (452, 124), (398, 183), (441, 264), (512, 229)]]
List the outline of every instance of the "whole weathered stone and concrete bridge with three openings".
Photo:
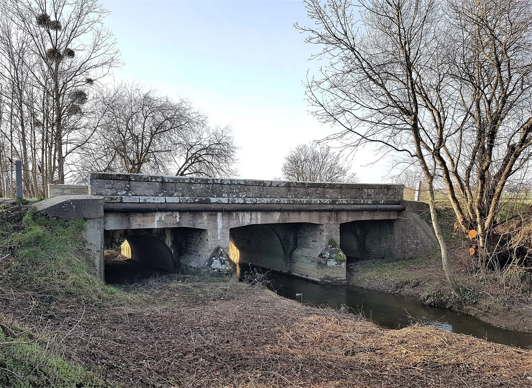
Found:
[(402, 185), (190, 178), (93, 172), (89, 195), (36, 204), (85, 218), (98, 275), (104, 249), (127, 240), (155, 267), (229, 275), (251, 263), (320, 281), (344, 280), (346, 257), (415, 257), (438, 250)]

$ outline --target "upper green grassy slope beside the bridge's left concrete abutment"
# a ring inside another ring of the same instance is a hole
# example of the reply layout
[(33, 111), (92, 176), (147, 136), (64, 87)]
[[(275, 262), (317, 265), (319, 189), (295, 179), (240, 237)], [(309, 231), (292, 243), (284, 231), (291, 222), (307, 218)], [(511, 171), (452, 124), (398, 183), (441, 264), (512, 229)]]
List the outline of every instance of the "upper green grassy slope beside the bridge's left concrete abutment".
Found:
[(0, 206), (3, 288), (100, 299), (109, 290), (86, 258), (84, 220), (51, 219), (24, 204)]

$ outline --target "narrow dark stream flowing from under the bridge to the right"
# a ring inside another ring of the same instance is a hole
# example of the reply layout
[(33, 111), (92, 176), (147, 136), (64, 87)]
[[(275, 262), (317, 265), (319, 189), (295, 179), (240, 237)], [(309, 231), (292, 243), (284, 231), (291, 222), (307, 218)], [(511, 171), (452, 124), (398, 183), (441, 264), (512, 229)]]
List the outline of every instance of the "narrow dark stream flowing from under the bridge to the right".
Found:
[[(473, 335), (520, 348), (532, 348), (532, 333), (495, 327), (467, 314), (426, 306), (417, 298), (365, 290), (350, 285), (320, 284), (256, 267), (251, 270), (261, 271), (269, 280), (269, 287), (280, 296), (310, 306), (340, 309), (345, 305), (354, 312), (362, 313), (369, 321), (383, 328), (398, 329), (419, 322), (447, 332)], [(249, 266), (242, 266), (240, 274), (242, 276), (249, 271)], [(301, 295), (296, 296), (296, 294)]]

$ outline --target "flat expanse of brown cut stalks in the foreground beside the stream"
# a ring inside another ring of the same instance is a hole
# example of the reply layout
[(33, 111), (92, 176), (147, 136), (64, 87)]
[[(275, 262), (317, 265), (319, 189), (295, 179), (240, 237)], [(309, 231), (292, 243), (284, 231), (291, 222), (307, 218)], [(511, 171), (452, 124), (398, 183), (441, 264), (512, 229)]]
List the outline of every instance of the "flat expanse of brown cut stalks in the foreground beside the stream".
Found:
[[(413, 326), (386, 331), (259, 286), (171, 277), (38, 326), (110, 386), (532, 387), (532, 354)], [(59, 307), (56, 307), (59, 309)]]

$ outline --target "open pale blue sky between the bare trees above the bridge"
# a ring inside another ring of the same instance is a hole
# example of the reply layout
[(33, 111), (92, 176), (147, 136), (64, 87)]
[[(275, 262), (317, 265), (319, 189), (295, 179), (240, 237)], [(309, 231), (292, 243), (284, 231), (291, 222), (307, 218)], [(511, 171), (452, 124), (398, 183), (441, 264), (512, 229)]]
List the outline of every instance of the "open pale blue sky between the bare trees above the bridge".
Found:
[[(102, 0), (124, 65), (117, 80), (187, 98), (212, 125), (233, 128), (240, 178), (275, 179), (290, 148), (334, 133), (305, 100), (309, 61), (320, 47), (294, 28), (309, 26), (300, 0)], [(387, 166), (368, 150), (352, 161), (364, 183)]]

